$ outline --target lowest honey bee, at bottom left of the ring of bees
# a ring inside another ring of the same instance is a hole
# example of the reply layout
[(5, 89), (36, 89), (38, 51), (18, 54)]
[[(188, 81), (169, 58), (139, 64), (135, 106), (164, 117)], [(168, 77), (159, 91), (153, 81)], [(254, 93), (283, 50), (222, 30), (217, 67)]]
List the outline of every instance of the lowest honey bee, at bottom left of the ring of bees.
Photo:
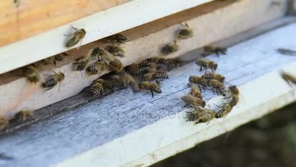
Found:
[(205, 123), (215, 118), (215, 111), (212, 109), (201, 108), (194, 110), (193, 112), (187, 112), (187, 121), (196, 121), (195, 124)]

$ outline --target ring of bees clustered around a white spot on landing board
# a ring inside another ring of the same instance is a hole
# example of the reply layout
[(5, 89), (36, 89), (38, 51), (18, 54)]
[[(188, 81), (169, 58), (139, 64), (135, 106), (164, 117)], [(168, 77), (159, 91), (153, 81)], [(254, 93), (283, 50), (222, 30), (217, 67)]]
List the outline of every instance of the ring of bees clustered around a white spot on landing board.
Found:
[[(214, 72), (217, 70), (218, 64), (205, 59), (197, 60), (195, 63), (201, 67), (200, 71), (204, 69), (205, 72), (201, 77), (189, 77), (188, 85), (191, 86), (190, 92), (181, 97), (186, 105), (193, 107), (192, 111), (187, 112), (187, 121), (192, 121), (195, 122), (195, 124), (198, 124), (209, 122), (214, 118), (226, 117), (227, 114), (231, 112), (232, 108), (239, 102), (240, 93), (238, 87), (235, 85), (229, 86), (228, 94), (230, 94), (230, 96), (225, 97), (227, 93), (224, 85), (225, 77)], [(209, 72), (207, 69), (211, 69), (212, 71)], [(228, 103), (222, 102), (222, 106), (215, 104), (220, 108), (218, 111), (206, 108), (202, 95), (202, 89), (206, 88), (210, 88), (218, 95), (224, 96), (223, 99), (231, 98), (231, 100)]]

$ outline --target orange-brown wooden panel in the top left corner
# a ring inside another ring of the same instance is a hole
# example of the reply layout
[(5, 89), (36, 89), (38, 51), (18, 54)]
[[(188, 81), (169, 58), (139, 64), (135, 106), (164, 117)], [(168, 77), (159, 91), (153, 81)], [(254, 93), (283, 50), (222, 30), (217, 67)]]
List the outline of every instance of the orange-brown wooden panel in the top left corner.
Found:
[(16, 42), (129, 0), (0, 1), (0, 46)]

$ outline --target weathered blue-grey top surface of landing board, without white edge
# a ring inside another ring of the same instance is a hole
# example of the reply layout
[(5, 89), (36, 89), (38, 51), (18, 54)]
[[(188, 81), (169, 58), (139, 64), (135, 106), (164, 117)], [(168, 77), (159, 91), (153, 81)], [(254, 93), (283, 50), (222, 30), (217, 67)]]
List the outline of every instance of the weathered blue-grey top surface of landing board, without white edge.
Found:
[[(228, 54), (208, 58), (219, 64), (218, 73), (229, 84), (242, 85), (288, 63), (296, 57), (276, 52), (278, 47), (295, 47), (293, 36), (296, 24), (290, 24), (257, 38), (237, 44)], [(281, 37), (281, 38), (278, 38)], [(162, 94), (151, 98), (150, 93), (120, 90), (103, 99), (94, 100), (49, 120), (30, 125), (15, 133), (0, 137), (0, 152), (15, 159), (0, 160), (5, 166), (48, 166), (59, 163), (93, 147), (101, 146), (143, 126), (182, 111), (180, 97), (188, 92), (190, 75), (201, 75), (194, 63), (169, 72)], [(213, 93), (203, 93), (205, 100)], [(158, 114), (155, 114), (157, 111)], [(157, 136), (156, 136), (157, 137)], [(110, 150), (112, 151), (112, 150)]]

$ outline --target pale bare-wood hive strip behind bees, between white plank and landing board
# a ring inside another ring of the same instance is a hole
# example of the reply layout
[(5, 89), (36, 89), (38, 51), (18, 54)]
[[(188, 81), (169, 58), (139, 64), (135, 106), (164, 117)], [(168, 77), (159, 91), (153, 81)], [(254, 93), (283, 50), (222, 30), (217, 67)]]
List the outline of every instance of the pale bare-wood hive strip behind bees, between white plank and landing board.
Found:
[[(256, 12), (251, 9), (256, 9)], [(190, 28), (194, 30), (194, 36), (190, 39), (179, 41), (180, 49), (167, 57), (183, 55), (206, 44), (220, 41), (264, 22), (279, 18), (284, 15), (284, 12), (284, 8), (270, 8), (270, 0), (255, 2), (241, 0), (214, 10), (211, 13), (187, 20), (186, 22), (190, 25)], [(193, 12), (191, 11), (190, 13), (192, 14)], [(254, 17), (257, 17), (257, 20), (254, 21)], [(203, 26), (201, 26), (201, 22), (203, 22)], [(120, 60), (125, 65), (129, 65), (130, 63), (159, 55), (161, 47), (167, 42), (172, 42), (175, 31), (181, 27), (177, 23), (149, 35), (126, 42), (124, 45), (126, 57)], [(74, 58), (83, 55), (90, 48), (98, 45), (105, 46), (106, 43), (92, 42), (85, 45), (81, 50), (70, 51), (69, 54), (73, 55), (72, 58)], [(39, 84), (30, 84), (26, 82), (25, 78), (17, 79), (18, 77), (14, 78), (17, 80), (10, 80), (0, 85), (0, 93), (7, 95), (0, 97), (0, 105), (3, 106), (0, 108), (0, 115), (9, 117), (26, 107), (38, 109), (72, 97), (84, 87), (90, 85), (92, 80), (98, 77), (98, 75), (87, 76), (84, 72), (81, 76), (80, 72), (73, 72), (71, 70), (72, 63), (70, 62), (53, 69), (55, 71), (65, 71), (66, 78), (60, 85), (60, 90), (56, 86), (49, 91), (45, 91)], [(42, 73), (48, 73), (48, 71), (42, 71)], [(6, 77), (3, 76), (3, 78), (5, 79)], [(5, 81), (3, 78), (0, 81)]]

